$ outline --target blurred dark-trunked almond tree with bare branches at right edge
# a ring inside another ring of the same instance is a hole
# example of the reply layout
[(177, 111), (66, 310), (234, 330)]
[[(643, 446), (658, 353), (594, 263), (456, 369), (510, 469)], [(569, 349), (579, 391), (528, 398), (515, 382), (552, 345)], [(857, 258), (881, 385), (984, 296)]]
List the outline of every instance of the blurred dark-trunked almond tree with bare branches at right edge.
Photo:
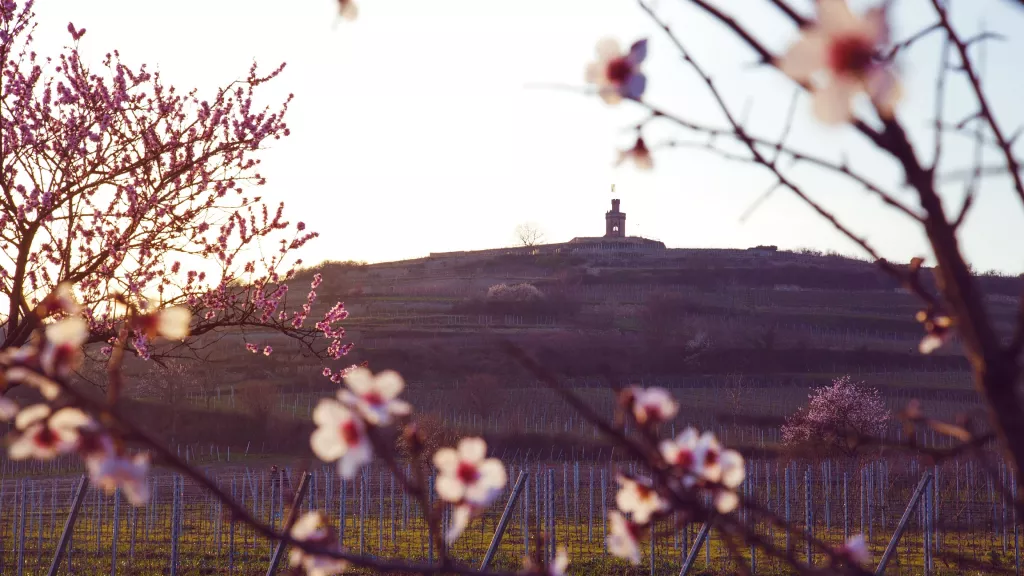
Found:
[[(929, 354), (955, 332), (963, 341), (974, 373), (975, 389), (987, 407), (990, 431), (965, 425), (940, 425), (912, 412), (909, 419), (925, 422), (942, 434), (964, 441), (964, 449), (975, 449), (993, 436), (1016, 470), (1024, 467), (1024, 398), (1018, 382), (1021, 355), (1024, 351), (1024, 291), (1019, 299), (1010, 330), (998, 330), (977, 277), (964, 256), (959, 232), (971, 215), (975, 198), (994, 178), (1009, 182), (1013, 198), (1024, 205), (1024, 161), (1015, 150), (1020, 130), (1013, 131), (1000, 122), (981, 79), (977, 46), (998, 35), (981, 32), (965, 35), (950, 19), (947, 2), (920, 0), (913, 5), (928, 13), (933, 24), (893, 38), (890, 30), (892, 2), (868, 3), (862, 13), (855, 13), (846, 0), (817, 0), (812, 7), (796, 7), (788, 0), (763, 0), (760, 7), (773, 11), (792, 28), (788, 46), (779, 51), (771, 47), (772, 31), (761, 30), (759, 23), (741, 22), (740, 11), (731, 2), (685, 0), (684, 5), (707, 16), (715, 38), (738, 42), (750, 55), (735, 67), (774, 70), (795, 84), (794, 99), (787, 110), (778, 110), (784, 120), (781, 134), (766, 135), (750, 127), (740, 111), (730, 104), (728, 94), (712, 77), (709, 69), (690, 50), (690, 38), (673, 30), (666, 15), (666, 5), (637, 0), (640, 10), (649, 16), (697, 84), (710, 96), (718, 111), (717, 122), (707, 114), (675, 112), (645, 98), (647, 78), (642, 70), (647, 56), (647, 39), (622, 46), (614, 39), (604, 39), (597, 46), (597, 57), (586, 69), (587, 82), (608, 105), (620, 102), (644, 111), (645, 116), (633, 127), (634, 143), (622, 151), (622, 158), (633, 160), (637, 167), (649, 169), (657, 162), (652, 156), (658, 149), (694, 149), (708, 151), (730, 161), (749, 164), (766, 174), (771, 186), (755, 207), (776, 192), (792, 194), (873, 260), (884, 273), (898, 281), (920, 298), (922, 308), (916, 320), (925, 336), (920, 349)], [(1022, 14), (1024, 15), (1024, 14)], [(924, 51), (919, 44), (925, 38), (941, 39), (939, 50)], [(900, 120), (899, 102), (904, 89), (898, 68), (938, 64), (935, 75), (932, 128), (926, 137), (911, 138)], [(950, 94), (967, 94), (956, 100)], [(814, 147), (801, 147), (790, 139), (797, 115), (798, 99), (809, 95), (814, 118), (842, 129), (859, 146), (866, 145), (874, 162), (893, 162), (900, 168), (902, 180), (896, 186), (881, 181), (871, 165), (858, 166), (846, 159), (824, 156)], [(869, 105), (855, 109), (855, 98)], [(967, 102), (967, 104), (964, 104)], [(644, 138), (653, 127), (668, 126), (678, 136), (654, 145)], [(969, 138), (973, 153), (953, 155), (948, 149), (956, 138)], [(994, 159), (985, 162), (986, 154)], [(966, 161), (966, 162), (965, 162)], [(966, 166), (965, 166), (966, 164)], [(935, 266), (924, 266), (925, 258), (915, 257), (908, 265), (884, 258), (880, 250), (835, 213), (815, 200), (802, 183), (798, 169), (816, 170), (852, 183), (867, 196), (881, 200), (900, 213), (909, 223), (908, 231), (923, 235), (932, 248)], [(944, 201), (943, 191), (950, 184), (962, 190), (957, 202)], [(943, 456), (948, 454), (943, 453)], [(1018, 494), (1016, 505), (1024, 511), (1024, 475), (1014, 476)], [(1009, 489), (1005, 491), (1010, 494)]]

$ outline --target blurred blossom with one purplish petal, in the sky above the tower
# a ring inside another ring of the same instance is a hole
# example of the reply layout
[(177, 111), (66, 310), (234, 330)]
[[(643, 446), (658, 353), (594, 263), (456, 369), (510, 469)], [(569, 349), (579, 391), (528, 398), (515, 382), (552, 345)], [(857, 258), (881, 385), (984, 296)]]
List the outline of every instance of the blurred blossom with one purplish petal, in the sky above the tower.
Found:
[(623, 98), (640, 99), (647, 87), (647, 78), (640, 72), (646, 57), (647, 40), (638, 40), (623, 52), (617, 41), (604, 38), (597, 43), (597, 60), (587, 66), (587, 83), (596, 84), (598, 94), (609, 105)]

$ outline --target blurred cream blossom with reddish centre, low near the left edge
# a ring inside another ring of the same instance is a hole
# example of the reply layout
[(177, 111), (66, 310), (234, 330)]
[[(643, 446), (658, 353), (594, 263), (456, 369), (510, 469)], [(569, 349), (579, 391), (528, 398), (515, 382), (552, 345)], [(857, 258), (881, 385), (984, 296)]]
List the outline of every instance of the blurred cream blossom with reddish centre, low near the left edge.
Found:
[(78, 441), (78, 428), (90, 421), (78, 408), (61, 408), (51, 414), (45, 404), (28, 406), (14, 417), (16, 436), (7, 454), (14, 460), (48, 460), (72, 452)]

